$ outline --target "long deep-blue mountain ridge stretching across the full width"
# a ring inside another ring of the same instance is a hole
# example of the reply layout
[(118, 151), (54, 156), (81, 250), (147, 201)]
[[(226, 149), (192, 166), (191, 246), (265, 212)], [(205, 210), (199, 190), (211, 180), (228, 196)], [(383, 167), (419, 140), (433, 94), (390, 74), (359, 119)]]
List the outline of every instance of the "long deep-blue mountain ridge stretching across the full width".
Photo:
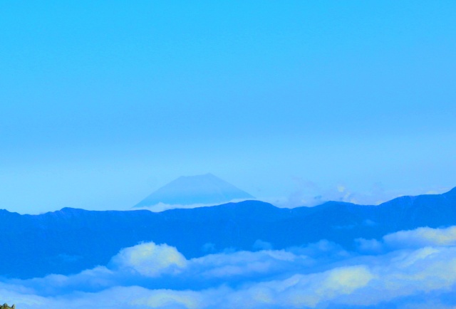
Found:
[(167, 243), (187, 258), (224, 248), (252, 250), (259, 239), (276, 249), (321, 239), (350, 249), (360, 237), (380, 239), (420, 226), (456, 225), (456, 188), (445, 194), (398, 197), (378, 206), (328, 201), (281, 209), (242, 201), (160, 213), (64, 208), (20, 215), (0, 210), (0, 221), (0, 247), (8, 252), (0, 255), (0, 276), (33, 278), (106, 265), (121, 248), (140, 241)]

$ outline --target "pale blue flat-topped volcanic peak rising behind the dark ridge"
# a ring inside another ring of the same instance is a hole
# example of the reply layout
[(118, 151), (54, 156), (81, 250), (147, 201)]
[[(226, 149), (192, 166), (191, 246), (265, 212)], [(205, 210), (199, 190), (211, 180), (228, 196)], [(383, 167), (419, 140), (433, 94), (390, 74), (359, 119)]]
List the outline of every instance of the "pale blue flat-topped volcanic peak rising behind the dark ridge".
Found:
[(220, 204), (233, 199), (254, 199), (213, 174), (181, 176), (150, 194), (135, 207), (163, 204)]

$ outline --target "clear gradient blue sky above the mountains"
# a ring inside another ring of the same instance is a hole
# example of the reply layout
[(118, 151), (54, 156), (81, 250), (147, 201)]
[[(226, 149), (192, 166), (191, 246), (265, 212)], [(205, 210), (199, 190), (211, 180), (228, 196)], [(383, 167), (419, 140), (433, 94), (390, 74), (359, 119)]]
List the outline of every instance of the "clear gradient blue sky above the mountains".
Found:
[[(0, 1), (0, 208), (456, 186), (455, 1)], [(280, 201), (280, 202), (279, 202)]]

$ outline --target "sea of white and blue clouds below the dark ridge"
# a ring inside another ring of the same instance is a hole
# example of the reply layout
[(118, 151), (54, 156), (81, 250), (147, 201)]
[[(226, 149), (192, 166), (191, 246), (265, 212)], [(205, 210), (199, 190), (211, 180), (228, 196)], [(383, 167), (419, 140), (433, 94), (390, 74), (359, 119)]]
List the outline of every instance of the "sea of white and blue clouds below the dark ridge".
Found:
[(455, 308), (456, 226), (187, 259), (166, 244), (123, 248), (72, 276), (1, 279), (0, 301), (27, 308)]

